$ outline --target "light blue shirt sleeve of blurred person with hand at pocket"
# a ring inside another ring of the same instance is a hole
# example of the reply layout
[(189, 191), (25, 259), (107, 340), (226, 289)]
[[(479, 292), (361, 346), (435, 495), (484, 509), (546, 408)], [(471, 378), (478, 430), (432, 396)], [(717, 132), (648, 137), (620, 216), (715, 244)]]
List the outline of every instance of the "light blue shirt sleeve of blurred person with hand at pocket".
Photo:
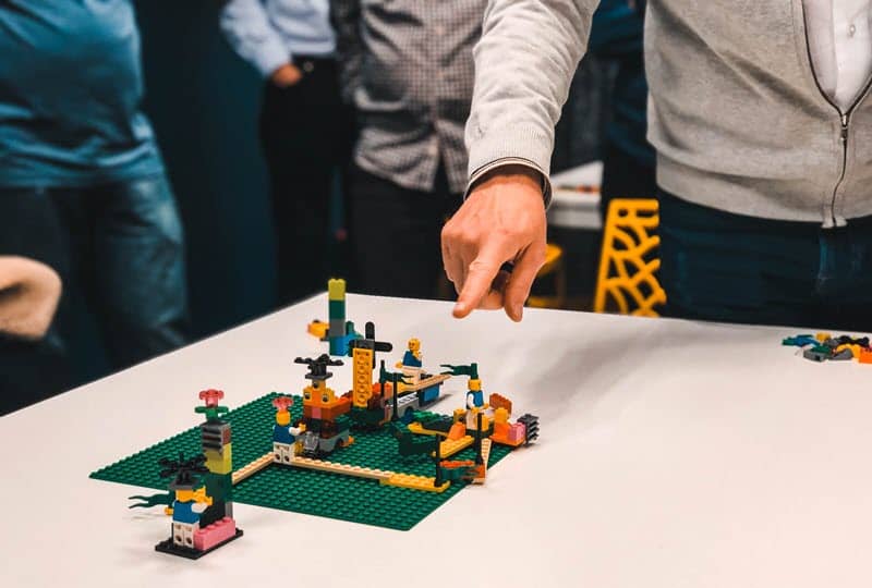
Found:
[(269, 23), (261, 0), (230, 0), (221, 9), (220, 24), (233, 50), (264, 77), (290, 61), (291, 56)]

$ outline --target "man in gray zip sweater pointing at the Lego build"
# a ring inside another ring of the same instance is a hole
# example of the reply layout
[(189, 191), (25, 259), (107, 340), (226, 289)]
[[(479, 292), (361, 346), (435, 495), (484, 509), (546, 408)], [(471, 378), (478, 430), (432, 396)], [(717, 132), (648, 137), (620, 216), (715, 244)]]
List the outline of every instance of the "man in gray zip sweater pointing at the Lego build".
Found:
[[(491, 1), (469, 197), (443, 232), (457, 317), (521, 319), (544, 258), (554, 124), (597, 3)], [(869, 0), (649, 1), (668, 314), (872, 329), (870, 13)]]

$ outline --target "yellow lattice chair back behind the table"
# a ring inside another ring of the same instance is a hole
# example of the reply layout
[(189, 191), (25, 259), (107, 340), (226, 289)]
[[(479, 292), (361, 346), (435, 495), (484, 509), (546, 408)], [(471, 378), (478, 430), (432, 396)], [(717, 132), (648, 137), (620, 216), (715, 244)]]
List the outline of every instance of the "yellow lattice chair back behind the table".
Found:
[(659, 316), (655, 307), (666, 303), (666, 292), (655, 275), (661, 267), (656, 257), (661, 240), (652, 233), (658, 223), (657, 200), (611, 200), (603, 231), (595, 313)]

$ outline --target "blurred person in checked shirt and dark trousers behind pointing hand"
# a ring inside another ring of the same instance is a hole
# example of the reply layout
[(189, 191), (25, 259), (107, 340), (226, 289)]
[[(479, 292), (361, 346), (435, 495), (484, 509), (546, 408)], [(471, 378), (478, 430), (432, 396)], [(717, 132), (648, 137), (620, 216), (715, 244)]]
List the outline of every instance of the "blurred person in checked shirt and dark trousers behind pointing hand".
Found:
[(431, 298), (467, 187), (463, 126), (487, 0), (331, 0), (359, 138), (347, 189), (360, 290)]

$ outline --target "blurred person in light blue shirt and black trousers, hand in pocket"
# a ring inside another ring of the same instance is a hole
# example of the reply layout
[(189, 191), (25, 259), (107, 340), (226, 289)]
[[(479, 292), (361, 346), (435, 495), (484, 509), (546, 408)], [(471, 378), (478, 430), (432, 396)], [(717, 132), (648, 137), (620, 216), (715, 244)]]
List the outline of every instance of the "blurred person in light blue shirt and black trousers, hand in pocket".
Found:
[(352, 124), (339, 95), (329, 0), (229, 0), (221, 29), (265, 79), (261, 145), (269, 170), (279, 299), (324, 290), (330, 201)]

